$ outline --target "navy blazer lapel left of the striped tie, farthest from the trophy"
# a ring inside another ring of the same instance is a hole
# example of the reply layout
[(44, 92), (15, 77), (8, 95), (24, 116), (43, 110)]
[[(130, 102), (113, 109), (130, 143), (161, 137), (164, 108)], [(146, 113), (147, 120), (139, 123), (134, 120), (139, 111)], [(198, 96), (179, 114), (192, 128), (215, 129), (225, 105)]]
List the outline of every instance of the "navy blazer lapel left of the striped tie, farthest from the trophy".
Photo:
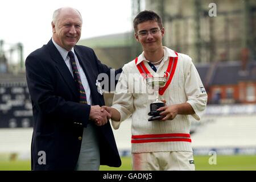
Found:
[(73, 95), (76, 98), (79, 98), (79, 92), (77, 91), (76, 82), (72, 77), (67, 65), (65, 64), (65, 61), (61, 57), (59, 51), (52, 43), (52, 40), (48, 42), (47, 46), (51, 54), (52, 60), (56, 62), (56, 68), (59, 70), (61, 76), (63, 77), (63, 80), (66, 82)]

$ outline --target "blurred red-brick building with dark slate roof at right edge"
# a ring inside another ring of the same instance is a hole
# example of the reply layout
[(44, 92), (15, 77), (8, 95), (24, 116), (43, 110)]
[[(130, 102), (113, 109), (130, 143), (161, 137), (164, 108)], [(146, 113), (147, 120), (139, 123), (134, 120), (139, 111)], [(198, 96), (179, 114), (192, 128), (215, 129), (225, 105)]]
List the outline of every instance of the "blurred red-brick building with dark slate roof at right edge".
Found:
[(208, 104), (256, 104), (256, 61), (197, 64)]

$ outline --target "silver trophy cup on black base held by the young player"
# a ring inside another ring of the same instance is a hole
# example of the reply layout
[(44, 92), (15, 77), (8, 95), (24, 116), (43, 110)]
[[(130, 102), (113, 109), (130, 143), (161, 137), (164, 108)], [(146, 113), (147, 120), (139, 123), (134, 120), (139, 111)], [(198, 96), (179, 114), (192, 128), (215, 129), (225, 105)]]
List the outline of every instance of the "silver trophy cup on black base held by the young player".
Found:
[(147, 85), (154, 90), (156, 94), (156, 100), (150, 104), (150, 112), (148, 115), (151, 117), (148, 118), (148, 121), (155, 121), (158, 119), (162, 119), (163, 116), (160, 115), (160, 111), (157, 111), (160, 107), (163, 107), (165, 104), (163, 101), (159, 101), (159, 89), (163, 88), (166, 85), (168, 78), (170, 77), (170, 73), (164, 72), (164, 76), (156, 76), (156, 77), (147, 77), (146, 82)]

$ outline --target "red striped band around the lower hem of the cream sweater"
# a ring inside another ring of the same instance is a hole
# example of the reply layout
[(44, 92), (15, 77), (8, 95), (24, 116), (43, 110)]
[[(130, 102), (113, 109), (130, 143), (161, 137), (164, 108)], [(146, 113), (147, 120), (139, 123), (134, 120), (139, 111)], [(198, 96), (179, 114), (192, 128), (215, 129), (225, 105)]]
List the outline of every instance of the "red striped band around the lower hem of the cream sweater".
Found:
[(148, 134), (131, 136), (131, 143), (150, 142), (191, 142), (191, 138), (189, 134), (185, 133)]

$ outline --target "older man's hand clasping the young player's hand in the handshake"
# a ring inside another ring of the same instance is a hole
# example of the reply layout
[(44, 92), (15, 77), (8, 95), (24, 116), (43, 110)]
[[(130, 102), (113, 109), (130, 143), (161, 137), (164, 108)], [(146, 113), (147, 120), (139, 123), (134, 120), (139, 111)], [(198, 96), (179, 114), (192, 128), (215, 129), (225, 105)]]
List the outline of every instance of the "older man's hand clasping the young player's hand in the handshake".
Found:
[(102, 126), (108, 122), (108, 119), (111, 118), (111, 115), (104, 108), (96, 105), (90, 107), (89, 118), (93, 120), (97, 126)]

